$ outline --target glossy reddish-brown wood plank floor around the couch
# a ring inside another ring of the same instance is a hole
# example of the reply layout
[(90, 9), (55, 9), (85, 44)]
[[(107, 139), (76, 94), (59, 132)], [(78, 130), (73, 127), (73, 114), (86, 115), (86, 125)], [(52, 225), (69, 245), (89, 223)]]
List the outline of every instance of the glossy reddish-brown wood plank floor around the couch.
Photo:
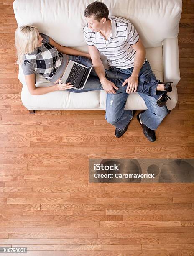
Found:
[(183, 1), (179, 102), (155, 143), (136, 118), (116, 139), (104, 110), (30, 115), (15, 28), (13, 0), (0, 0), (0, 246), (27, 246), (28, 256), (194, 255), (194, 184), (91, 184), (87, 167), (89, 158), (194, 157), (194, 0)]

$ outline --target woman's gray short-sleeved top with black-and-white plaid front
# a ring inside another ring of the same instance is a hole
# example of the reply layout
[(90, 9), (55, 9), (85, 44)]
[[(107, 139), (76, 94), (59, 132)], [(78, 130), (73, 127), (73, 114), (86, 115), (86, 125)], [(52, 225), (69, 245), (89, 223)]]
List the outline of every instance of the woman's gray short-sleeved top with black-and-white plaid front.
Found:
[(24, 75), (41, 74), (47, 80), (56, 82), (61, 77), (69, 60), (68, 55), (57, 51), (49, 44), (49, 37), (40, 34), (43, 38), (42, 46), (31, 54), (25, 54), (22, 63)]

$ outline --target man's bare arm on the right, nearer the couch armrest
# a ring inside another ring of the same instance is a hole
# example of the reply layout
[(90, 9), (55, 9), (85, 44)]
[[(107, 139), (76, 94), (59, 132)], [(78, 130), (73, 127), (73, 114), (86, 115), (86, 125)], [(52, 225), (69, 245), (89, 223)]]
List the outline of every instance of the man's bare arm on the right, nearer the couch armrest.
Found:
[(136, 51), (136, 55), (135, 55), (133, 72), (131, 76), (128, 79), (126, 79), (125, 82), (123, 83), (123, 86), (128, 83), (128, 87), (126, 90), (127, 93), (136, 92), (138, 87), (139, 72), (145, 60), (145, 48), (140, 38), (136, 44), (133, 44), (131, 46)]

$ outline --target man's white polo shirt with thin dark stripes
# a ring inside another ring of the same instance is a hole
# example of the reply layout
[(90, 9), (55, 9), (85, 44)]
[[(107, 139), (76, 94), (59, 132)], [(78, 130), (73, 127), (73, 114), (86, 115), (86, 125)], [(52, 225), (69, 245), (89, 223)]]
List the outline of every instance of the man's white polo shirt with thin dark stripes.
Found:
[[(112, 32), (105, 40), (100, 31), (94, 32), (84, 26), (83, 32), (88, 46), (95, 46), (107, 57), (109, 67), (128, 69), (134, 67), (136, 51), (132, 45), (137, 43), (139, 35), (133, 24), (125, 18), (110, 16)], [(145, 63), (145, 61), (144, 61)]]

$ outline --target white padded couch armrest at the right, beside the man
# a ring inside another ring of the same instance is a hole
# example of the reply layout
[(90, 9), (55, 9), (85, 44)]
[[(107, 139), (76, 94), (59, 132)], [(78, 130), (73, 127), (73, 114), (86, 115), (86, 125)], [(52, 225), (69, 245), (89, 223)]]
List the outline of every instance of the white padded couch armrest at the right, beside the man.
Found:
[(163, 40), (163, 81), (173, 82), (177, 85), (180, 81), (179, 46), (178, 38)]

